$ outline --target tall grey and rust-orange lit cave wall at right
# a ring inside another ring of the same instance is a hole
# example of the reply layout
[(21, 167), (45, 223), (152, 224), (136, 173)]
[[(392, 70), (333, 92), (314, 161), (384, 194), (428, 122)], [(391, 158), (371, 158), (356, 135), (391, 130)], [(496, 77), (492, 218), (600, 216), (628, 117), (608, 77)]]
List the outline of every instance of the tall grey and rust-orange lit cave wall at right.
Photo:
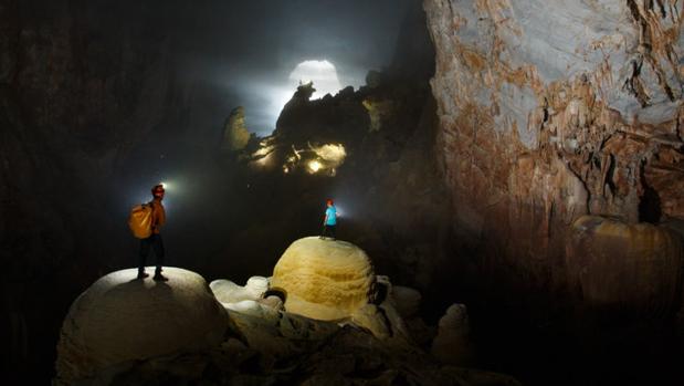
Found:
[[(578, 272), (632, 292), (672, 281), (651, 300), (633, 299), (643, 310), (674, 296), (672, 316), (681, 304), (684, 220), (682, 2), (423, 6), (436, 51), (438, 156), (464, 254), (477, 258), (485, 277), (590, 303), (602, 301)], [(651, 222), (670, 241), (627, 231), (607, 241), (577, 222), (585, 215)], [(593, 249), (579, 248), (578, 238)], [(632, 248), (642, 268), (666, 269), (644, 279), (587, 263), (606, 260), (598, 244), (611, 242)]]

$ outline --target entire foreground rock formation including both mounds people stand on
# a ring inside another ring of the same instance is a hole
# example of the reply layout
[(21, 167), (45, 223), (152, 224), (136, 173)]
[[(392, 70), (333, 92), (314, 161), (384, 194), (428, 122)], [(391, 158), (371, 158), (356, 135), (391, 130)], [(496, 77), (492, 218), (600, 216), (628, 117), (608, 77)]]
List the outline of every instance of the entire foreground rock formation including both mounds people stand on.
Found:
[[(269, 280), (262, 277), (245, 286), (213, 281), (225, 311), (190, 271), (167, 268), (164, 283), (134, 279), (134, 269), (102, 278), (64, 321), (56, 384), (519, 385), (506, 375), (435, 362), (403, 330), (394, 309), (409, 299), (413, 313), (417, 291), (394, 291), (389, 278), (379, 277), (369, 299), (372, 270), (352, 244), (297, 240), (275, 271), (274, 283), (287, 290), (290, 310), (263, 302), (273, 290), (266, 291)], [(290, 312), (290, 300), (302, 290), (317, 299), (295, 311), (323, 310), (328, 317), (338, 307), (347, 316), (325, 321)], [(436, 345), (461, 352), (464, 310), (450, 307)]]

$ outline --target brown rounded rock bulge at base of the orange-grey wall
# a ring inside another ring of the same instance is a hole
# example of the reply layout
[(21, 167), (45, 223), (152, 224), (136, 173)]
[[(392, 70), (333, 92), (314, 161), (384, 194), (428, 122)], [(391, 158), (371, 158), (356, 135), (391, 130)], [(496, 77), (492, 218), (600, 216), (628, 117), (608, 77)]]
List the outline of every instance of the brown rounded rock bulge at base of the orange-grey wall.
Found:
[(591, 306), (674, 316), (684, 261), (676, 234), (650, 223), (585, 216), (572, 226), (568, 250), (570, 280)]

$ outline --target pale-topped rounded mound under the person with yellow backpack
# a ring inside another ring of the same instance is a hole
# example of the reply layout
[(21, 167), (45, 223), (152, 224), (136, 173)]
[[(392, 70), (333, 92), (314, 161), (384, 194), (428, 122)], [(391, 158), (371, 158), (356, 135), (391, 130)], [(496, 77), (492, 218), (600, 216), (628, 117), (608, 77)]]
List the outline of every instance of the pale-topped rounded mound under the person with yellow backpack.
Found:
[(57, 344), (57, 384), (223, 341), (228, 313), (204, 279), (178, 268), (164, 274), (167, 282), (137, 280), (137, 269), (113, 272), (74, 301)]

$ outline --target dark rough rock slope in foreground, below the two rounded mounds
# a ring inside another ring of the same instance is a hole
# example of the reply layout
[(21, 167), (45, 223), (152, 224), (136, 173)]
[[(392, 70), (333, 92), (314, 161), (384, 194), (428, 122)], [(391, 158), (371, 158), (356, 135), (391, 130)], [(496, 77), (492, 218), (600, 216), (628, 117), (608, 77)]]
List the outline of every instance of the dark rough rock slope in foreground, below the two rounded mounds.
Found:
[(435, 385), (517, 386), (514, 378), (443, 366), (352, 326), (293, 314), (263, 320), (230, 313), (231, 334), (200, 354), (159, 356), (112, 369), (113, 385)]

